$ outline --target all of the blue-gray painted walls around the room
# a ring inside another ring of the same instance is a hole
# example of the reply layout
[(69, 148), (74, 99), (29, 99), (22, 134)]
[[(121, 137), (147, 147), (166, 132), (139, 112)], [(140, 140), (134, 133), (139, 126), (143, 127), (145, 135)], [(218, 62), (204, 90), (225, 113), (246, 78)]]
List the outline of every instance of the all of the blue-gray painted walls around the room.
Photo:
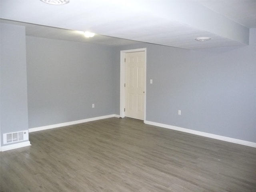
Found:
[(120, 50), (146, 47), (146, 120), (256, 142), (256, 30), (250, 31), (250, 46), (243, 47), (113, 48), (35, 37), (25, 42), (23, 27), (3, 24), (1, 134), (119, 114)]

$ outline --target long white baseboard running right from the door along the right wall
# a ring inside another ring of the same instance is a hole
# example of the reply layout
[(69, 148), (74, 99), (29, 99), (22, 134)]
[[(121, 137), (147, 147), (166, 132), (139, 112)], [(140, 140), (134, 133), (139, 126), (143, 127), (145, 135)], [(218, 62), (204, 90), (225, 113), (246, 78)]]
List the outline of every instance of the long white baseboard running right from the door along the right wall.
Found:
[(190, 134), (200, 135), (200, 136), (204, 136), (204, 137), (208, 137), (208, 138), (218, 139), (218, 140), (222, 140), (222, 141), (227, 141), (227, 142), (231, 142), (231, 143), (236, 143), (236, 144), (241, 144), (241, 145), (246, 145), (246, 146), (256, 148), (256, 143), (250, 142), (250, 141), (234, 139), (234, 138), (230, 138), (230, 137), (210, 134), (210, 133), (201, 132), (201, 131), (195, 131), (195, 130), (191, 130), (191, 129), (181, 128), (181, 127), (176, 127), (176, 126), (172, 126), (172, 125), (166, 125), (166, 124), (156, 123), (156, 122), (151, 122), (151, 121), (144, 121), (144, 123), (162, 127), (162, 128), (172, 129), (172, 130), (176, 130), (176, 131), (186, 132), (186, 133), (190, 133)]

